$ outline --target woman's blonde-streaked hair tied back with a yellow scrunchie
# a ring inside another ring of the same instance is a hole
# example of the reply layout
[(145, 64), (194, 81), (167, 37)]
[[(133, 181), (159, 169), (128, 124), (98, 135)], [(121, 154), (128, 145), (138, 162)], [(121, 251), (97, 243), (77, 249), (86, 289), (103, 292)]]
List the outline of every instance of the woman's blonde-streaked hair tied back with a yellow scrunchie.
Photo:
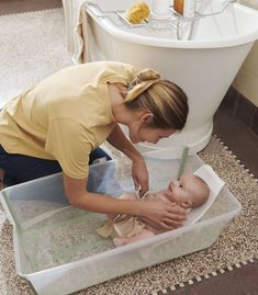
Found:
[(160, 79), (159, 73), (152, 69), (137, 73), (124, 103), (131, 110), (150, 112), (154, 117), (149, 126), (165, 129), (182, 129), (189, 113), (183, 90), (169, 80)]

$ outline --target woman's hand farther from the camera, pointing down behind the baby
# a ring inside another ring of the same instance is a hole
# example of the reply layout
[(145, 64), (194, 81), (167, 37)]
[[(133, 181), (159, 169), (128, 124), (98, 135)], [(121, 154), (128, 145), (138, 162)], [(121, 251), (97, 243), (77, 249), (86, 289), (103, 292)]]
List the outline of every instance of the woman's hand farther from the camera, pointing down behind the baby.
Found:
[(133, 160), (132, 178), (135, 190), (139, 190), (139, 196), (143, 196), (148, 191), (148, 171), (144, 158)]

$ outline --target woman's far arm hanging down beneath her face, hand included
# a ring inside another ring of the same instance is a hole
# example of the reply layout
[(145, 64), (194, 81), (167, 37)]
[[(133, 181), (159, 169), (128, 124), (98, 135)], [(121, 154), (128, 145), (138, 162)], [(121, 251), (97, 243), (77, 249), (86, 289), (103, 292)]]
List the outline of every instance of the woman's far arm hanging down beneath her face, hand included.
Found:
[(132, 177), (135, 189), (139, 190), (139, 195), (144, 195), (148, 191), (148, 172), (143, 156), (133, 146), (121, 131), (119, 124), (113, 128), (106, 139), (113, 147), (121, 150), (132, 160)]

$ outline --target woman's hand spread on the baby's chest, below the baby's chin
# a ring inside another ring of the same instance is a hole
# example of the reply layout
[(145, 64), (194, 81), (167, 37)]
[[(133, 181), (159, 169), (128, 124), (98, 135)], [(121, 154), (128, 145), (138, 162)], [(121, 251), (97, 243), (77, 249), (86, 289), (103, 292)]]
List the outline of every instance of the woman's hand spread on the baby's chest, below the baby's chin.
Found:
[(170, 230), (183, 225), (187, 211), (168, 200), (145, 200), (141, 219), (157, 230)]

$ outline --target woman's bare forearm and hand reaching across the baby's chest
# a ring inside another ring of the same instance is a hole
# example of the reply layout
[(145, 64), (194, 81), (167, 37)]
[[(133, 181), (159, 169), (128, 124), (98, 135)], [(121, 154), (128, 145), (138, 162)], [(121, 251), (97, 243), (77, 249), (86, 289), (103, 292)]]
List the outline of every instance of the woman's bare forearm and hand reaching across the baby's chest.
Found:
[(169, 201), (116, 200), (98, 193), (87, 192), (87, 179), (72, 179), (63, 173), (64, 188), (70, 205), (85, 211), (105, 214), (128, 214), (146, 217), (164, 229), (181, 226), (186, 219), (186, 211), (176, 207)]

